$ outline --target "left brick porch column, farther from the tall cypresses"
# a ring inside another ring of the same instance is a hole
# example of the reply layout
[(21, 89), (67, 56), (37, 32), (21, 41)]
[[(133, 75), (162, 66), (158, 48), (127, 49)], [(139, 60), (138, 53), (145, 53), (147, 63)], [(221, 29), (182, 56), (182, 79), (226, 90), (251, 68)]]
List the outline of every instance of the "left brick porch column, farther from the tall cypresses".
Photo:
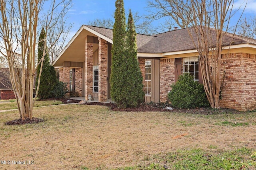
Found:
[(88, 95), (92, 95), (93, 81), (93, 43), (85, 43), (85, 100), (88, 100)]

